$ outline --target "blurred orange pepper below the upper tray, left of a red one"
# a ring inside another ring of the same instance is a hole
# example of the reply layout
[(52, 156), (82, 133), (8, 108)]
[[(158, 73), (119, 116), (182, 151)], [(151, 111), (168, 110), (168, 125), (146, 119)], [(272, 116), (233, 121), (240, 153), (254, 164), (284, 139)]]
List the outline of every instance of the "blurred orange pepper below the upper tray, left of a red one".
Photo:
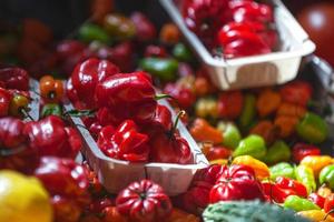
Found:
[(271, 89), (263, 90), (256, 101), (256, 109), (259, 117), (267, 117), (274, 113), (281, 104), (281, 94)]

